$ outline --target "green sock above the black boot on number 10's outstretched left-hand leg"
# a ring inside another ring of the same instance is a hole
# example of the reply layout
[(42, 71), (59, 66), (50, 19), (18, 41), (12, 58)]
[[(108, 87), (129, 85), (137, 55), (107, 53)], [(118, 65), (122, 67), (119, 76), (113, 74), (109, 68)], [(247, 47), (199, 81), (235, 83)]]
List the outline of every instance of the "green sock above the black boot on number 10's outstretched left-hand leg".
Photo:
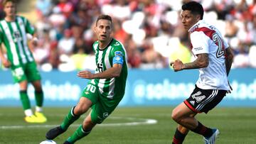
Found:
[(76, 116), (74, 114), (75, 106), (70, 110), (67, 116), (65, 116), (63, 123), (61, 123), (60, 127), (66, 131), (70, 124), (72, 124), (74, 121), (76, 121), (80, 116)]

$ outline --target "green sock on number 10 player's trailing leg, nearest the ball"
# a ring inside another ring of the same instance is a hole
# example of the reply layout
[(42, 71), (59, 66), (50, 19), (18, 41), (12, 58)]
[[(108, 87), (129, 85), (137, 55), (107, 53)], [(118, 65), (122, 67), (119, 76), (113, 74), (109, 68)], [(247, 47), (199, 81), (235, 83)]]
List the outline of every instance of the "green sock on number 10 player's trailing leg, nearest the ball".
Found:
[(77, 140), (80, 140), (81, 138), (88, 135), (91, 131), (84, 131), (82, 128), (82, 125), (78, 127), (78, 129), (68, 138), (69, 143), (75, 143)]

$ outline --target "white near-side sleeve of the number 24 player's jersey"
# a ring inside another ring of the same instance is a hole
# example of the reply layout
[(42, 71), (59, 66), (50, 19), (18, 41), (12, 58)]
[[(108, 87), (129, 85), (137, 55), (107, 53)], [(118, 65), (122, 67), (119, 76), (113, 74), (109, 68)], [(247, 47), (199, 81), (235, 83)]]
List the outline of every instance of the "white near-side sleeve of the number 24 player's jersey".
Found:
[(206, 35), (203, 32), (195, 31), (191, 33), (191, 44), (193, 46), (193, 54), (198, 55), (201, 53), (209, 53), (208, 40), (208, 37), (206, 37)]

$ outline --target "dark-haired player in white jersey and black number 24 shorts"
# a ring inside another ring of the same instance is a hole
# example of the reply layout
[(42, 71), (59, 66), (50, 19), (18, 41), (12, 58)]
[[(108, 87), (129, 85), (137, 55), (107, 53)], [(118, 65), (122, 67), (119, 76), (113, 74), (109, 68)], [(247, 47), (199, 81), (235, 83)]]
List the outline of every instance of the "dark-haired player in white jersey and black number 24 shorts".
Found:
[(219, 130), (203, 126), (195, 116), (213, 109), (232, 90), (228, 73), (233, 53), (220, 32), (203, 21), (201, 4), (195, 1), (183, 4), (181, 22), (190, 34), (191, 50), (196, 60), (188, 63), (175, 60), (171, 66), (175, 72), (199, 69), (199, 78), (191, 96), (172, 111), (171, 117), (178, 123), (172, 143), (183, 143), (188, 131), (193, 131), (203, 135), (205, 143), (213, 144)]

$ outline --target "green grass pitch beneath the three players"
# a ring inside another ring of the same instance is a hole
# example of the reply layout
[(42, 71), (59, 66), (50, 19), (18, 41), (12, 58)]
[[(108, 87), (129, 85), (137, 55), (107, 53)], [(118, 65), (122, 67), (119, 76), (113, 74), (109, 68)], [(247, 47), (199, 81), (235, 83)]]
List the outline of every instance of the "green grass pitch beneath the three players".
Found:
[[(167, 144), (176, 129), (171, 120), (173, 107), (118, 107), (101, 126), (97, 125), (90, 135), (82, 138), (78, 144)], [(0, 107), (0, 143), (36, 144), (46, 140), (46, 132), (59, 125), (70, 108), (44, 109), (47, 123), (34, 124), (23, 121), (20, 107)], [(63, 135), (55, 138), (56, 143), (63, 143), (78, 125), (83, 115)], [(201, 123), (220, 130), (217, 144), (252, 144), (256, 143), (256, 108), (216, 108), (196, 116)], [(144, 122), (155, 119), (156, 124), (132, 126), (113, 126), (114, 123)], [(201, 135), (189, 132), (184, 144), (203, 143)]]

